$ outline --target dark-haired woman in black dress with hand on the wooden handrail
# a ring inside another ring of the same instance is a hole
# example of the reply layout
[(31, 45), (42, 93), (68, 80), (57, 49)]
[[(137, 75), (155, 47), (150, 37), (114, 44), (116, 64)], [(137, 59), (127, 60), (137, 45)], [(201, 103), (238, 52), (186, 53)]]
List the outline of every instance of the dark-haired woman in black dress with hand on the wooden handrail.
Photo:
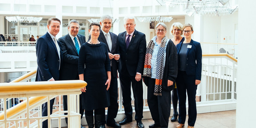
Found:
[[(105, 116), (105, 108), (110, 104), (108, 88), (111, 67), (107, 45), (98, 41), (100, 24), (90, 24), (89, 33), (91, 40), (80, 48), (78, 73), (79, 79), (87, 82), (87, 86), (81, 91), (88, 127), (93, 128), (95, 124), (95, 128), (100, 128), (102, 116)], [(95, 122), (93, 122), (93, 110)]]

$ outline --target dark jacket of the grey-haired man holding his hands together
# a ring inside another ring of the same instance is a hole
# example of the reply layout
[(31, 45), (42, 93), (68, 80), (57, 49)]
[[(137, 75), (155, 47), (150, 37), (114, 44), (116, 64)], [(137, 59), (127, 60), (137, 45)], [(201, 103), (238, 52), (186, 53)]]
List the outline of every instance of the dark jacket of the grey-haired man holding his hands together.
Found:
[[(108, 47), (108, 52), (112, 53), (112, 54), (120, 54), (118, 50), (118, 44), (117, 44), (117, 35), (112, 33), (112, 32), (109, 32), (110, 33), (110, 36), (111, 36), (111, 41), (112, 41), (112, 49), (111, 49), (111, 52), (109, 50), (109, 47)], [(88, 40), (91, 40), (91, 35), (89, 36), (89, 39)], [(98, 40), (100, 42), (103, 42), (105, 43), (107, 46), (108, 46), (108, 42), (105, 38), (105, 35), (104, 33), (102, 32), (102, 30), (100, 29), (100, 36), (98, 37)], [(117, 69), (118, 69), (118, 61), (116, 61), (115, 59), (112, 59), (111, 60), (111, 64), (112, 64), (112, 74), (114, 77), (117, 76)]]

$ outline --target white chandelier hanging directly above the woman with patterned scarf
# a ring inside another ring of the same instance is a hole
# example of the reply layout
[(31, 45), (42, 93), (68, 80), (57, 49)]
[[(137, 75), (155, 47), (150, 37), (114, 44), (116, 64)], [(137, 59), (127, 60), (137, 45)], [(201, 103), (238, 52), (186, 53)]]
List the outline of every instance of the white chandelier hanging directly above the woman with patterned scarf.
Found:
[(151, 23), (151, 22), (171, 22), (171, 20), (173, 19), (172, 16), (170, 17), (162, 17), (162, 16), (156, 16), (156, 17), (137, 17), (137, 19), (140, 21), (140, 22), (148, 22), (148, 23)]

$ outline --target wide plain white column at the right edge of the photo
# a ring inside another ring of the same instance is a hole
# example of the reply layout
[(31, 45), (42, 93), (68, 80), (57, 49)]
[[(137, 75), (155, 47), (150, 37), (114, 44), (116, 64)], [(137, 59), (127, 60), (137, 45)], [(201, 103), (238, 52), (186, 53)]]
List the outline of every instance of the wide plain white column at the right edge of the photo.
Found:
[[(236, 128), (255, 127), (255, 91), (256, 91), (256, 67), (254, 41), (256, 30), (256, 15), (252, 14), (256, 6), (255, 0), (238, 0), (238, 72), (237, 72), (237, 104), (236, 104)], [(245, 27), (247, 26), (247, 27)], [(248, 28), (248, 32), (244, 31)]]

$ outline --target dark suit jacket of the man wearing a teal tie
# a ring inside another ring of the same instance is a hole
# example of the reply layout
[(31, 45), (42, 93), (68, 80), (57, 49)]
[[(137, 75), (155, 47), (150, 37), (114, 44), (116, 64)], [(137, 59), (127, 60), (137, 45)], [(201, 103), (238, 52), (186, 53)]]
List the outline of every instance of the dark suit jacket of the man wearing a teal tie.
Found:
[[(85, 43), (85, 36), (77, 34), (80, 44)], [(60, 67), (60, 80), (79, 80), (78, 53), (69, 34), (59, 38), (60, 48), (63, 51), (63, 64)]]

